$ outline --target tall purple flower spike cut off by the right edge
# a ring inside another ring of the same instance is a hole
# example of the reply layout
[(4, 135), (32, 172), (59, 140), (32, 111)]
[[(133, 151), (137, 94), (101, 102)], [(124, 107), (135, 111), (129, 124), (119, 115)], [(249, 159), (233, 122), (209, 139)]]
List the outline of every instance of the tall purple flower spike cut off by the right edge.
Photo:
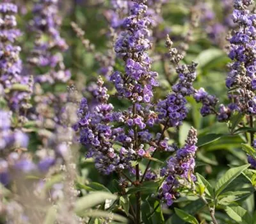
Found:
[[(234, 2), (233, 20), (237, 28), (230, 38), (228, 56), (233, 62), (230, 65), (226, 85), (229, 89), (234, 89), (230, 98), (236, 104), (237, 110), (244, 114), (255, 115), (255, 14), (250, 11), (250, 4), (252, 1)], [(224, 113), (224, 117), (222, 115), (220, 115), (221, 120), (227, 116), (227, 113)]]

